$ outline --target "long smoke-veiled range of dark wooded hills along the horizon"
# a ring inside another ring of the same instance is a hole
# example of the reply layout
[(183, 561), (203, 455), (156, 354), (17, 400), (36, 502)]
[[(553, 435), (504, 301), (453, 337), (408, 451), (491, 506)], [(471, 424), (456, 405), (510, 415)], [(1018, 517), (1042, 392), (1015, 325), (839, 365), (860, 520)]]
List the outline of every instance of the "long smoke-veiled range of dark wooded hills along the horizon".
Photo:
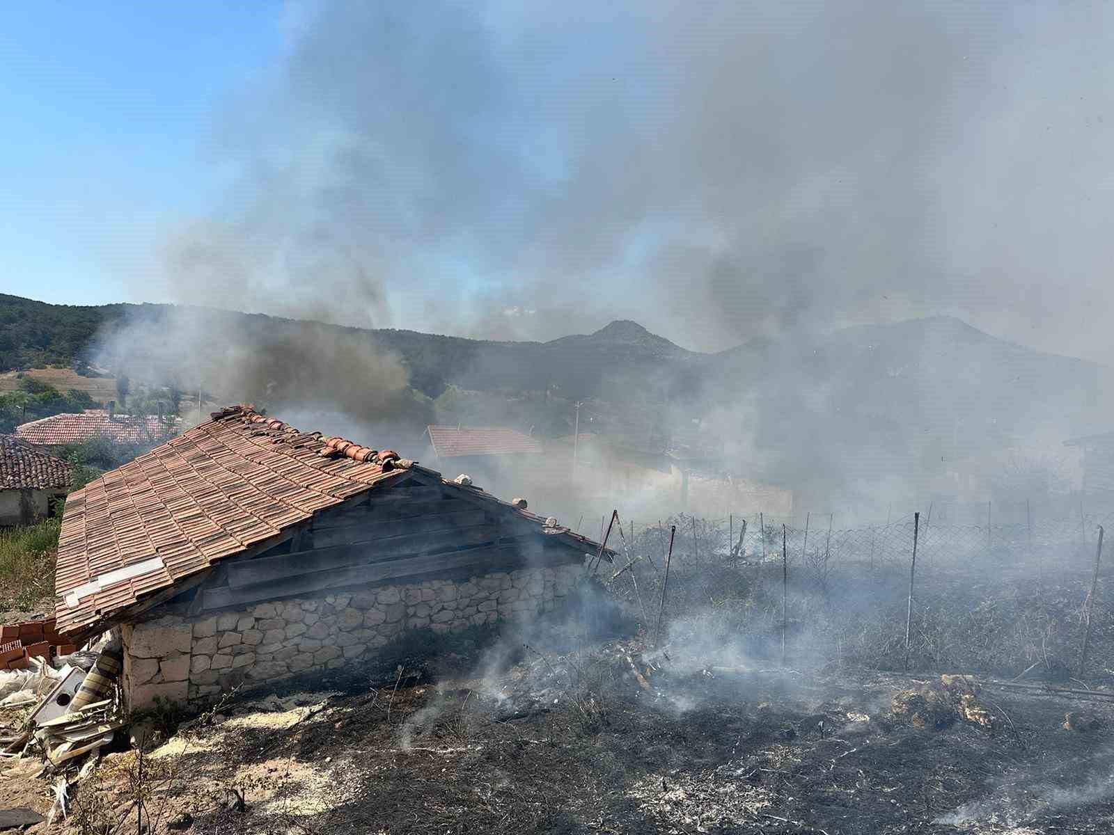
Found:
[[(945, 483), (965, 461), (985, 471), (987, 455), (1037, 436), (1057, 448), (1108, 430), (1114, 413), (1110, 369), (950, 317), (786, 333), (716, 354), (686, 351), (629, 321), (515, 343), (0, 296), (0, 322), (2, 369), (95, 362), (163, 400), (202, 387), (207, 402), (252, 400), (306, 425), (341, 414), (334, 431), (403, 445), (433, 421), (568, 434), (582, 402), (580, 431), (652, 454), (712, 450), (749, 478), (794, 490), (808, 483), (821, 501), (853, 487), (876, 507), (895, 485)], [(172, 325), (177, 343), (164, 337)], [(115, 353), (106, 355), (106, 344)], [(250, 374), (232, 376), (247, 366)]]

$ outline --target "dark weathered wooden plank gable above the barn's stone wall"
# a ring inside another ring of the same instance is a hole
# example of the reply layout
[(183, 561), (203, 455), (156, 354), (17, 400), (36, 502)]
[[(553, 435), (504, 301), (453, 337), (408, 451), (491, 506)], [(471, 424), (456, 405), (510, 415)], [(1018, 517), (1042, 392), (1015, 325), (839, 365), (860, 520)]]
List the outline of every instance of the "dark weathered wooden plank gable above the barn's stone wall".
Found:
[(330, 508), (289, 544), (223, 563), (201, 590), (213, 610), (295, 595), (437, 574), (577, 562), (583, 553), (528, 520), (436, 485), (370, 491)]

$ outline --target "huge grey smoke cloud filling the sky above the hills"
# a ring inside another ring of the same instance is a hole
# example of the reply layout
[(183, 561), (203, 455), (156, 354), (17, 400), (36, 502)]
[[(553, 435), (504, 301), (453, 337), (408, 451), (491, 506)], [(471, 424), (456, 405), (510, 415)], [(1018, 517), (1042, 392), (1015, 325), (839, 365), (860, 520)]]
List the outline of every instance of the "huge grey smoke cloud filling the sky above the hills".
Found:
[(1100, 7), (295, 8), (179, 299), (701, 350), (951, 313), (1111, 358)]

